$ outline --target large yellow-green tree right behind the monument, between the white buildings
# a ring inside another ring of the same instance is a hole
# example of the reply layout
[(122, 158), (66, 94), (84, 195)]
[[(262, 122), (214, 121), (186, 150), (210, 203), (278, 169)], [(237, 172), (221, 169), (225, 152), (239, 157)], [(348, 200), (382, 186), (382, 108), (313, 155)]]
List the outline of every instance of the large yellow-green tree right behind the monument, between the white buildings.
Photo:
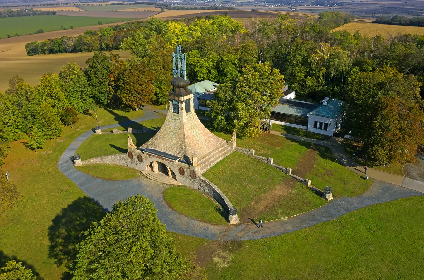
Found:
[(257, 136), (282, 96), (283, 85), (284, 77), (268, 64), (246, 65), (239, 77), (219, 85), (207, 114), (217, 129)]

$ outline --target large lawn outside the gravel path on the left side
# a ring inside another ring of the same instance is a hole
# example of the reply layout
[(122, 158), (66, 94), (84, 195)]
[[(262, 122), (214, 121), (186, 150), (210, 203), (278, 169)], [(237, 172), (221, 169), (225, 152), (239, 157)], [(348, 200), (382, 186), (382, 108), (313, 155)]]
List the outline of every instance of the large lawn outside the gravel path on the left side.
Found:
[[(137, 118), (143, 111), (99, 109), (97, 115), (100, 124), (106, 125)], [(2, 168), (3, 173), (9, 170), (10, 180), (17, 185), (22, 198), (16, 209), (0, 217), (0, 250), (8, 257), (30, 264), (45, 280), (58, 280), (66, 271), (63, 265), (56, 266), (55, 259), (48, 257), (48, 228), (62, 209), (85, 197), (84, 192), (57, 169), (57, 162), (76, 137), (96, 124), (99, 123), (91, 115), (80, 115), (80, 121), (73, 128), (64, 127), (62, 136), (48, 140), (38, 154), (25, 148), (21, 141), (13, 142)]]

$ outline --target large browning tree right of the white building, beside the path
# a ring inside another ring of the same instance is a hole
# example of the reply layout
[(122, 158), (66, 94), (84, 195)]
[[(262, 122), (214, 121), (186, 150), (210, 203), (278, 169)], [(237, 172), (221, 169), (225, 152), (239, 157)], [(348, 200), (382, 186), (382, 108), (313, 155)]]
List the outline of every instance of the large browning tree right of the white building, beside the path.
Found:
[(374, 72), (354, 70), (346, 88), (351, 134), (377, 165), (415, 162), (424, 143), (420, 83), (388, 66)]

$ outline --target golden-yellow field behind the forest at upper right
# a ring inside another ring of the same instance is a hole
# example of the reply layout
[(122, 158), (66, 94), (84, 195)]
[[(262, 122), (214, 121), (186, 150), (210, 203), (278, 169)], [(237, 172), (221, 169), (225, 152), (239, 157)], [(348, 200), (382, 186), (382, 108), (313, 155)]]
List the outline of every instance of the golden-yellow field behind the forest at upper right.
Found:
[(351, 33), (354, 33), (358, 30), (359, 33), (365, 34), (368, 36), (396, 36), (399, 33), (411, 33), (424, 35), (424, 27), (416, 26), (403, 26), (403, 25), (387, 25), (387, 24), (378, 24), (378, 23), (365, 23), (365, 22), (351, 22), (342, 26), (339, 26), (333, 31), (348, 30)]

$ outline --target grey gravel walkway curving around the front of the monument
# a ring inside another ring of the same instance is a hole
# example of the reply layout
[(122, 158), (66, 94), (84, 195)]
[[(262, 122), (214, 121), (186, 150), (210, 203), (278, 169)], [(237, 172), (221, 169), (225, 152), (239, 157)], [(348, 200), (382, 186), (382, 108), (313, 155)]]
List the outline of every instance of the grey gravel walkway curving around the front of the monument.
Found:
[[(159, 110), (146, 110), (145, 114), (132, 121), (102, 126), (102, 129), (111, 129), (117, 126), (131, 124), (132, 122), (145, 121), (159, 117)], [(162, 112), (161, 112), (162, 113)], [(331, 200), (324, 206), (312, 211), (299, 214), (287, 220), (264, 222), (264, 227), (258, 229), (254, 224), (218, 226), (200, 222), (179, 214), (170, 209), (163, 198), (162, 192), (166, 188), (147, 178), (135, 178), (125, 181), (106, 181), (82, 173), (75, 169), (70, 157), (75, 154), (77, 148), (87, 140), (93, 132), (91, 130), (78, 136), (64, 151), (59, 159), (59, 170), (72, 180), (77, 186), (93, 200), (97, 201), (105, 210), (111, 210), (112, 205), (118, 200), (125, 200), (131, 195), (144, 195), (151, 199), (158, 209), (157, 216), (167, 226), (168, 231), (197, 236), (205, 239), (217, 239), (225, 241), (259, 239), (276, 236), (282, 233), (307, 228), (319, 222), (333, 220), (343, 214), (370, 206), (377, 203), (407, 198), (410, 196), (423, 195), (421, 192), (406, 189), (383, 181), (375, 181), (373, 186), (354, 198), (343, 197)]]

